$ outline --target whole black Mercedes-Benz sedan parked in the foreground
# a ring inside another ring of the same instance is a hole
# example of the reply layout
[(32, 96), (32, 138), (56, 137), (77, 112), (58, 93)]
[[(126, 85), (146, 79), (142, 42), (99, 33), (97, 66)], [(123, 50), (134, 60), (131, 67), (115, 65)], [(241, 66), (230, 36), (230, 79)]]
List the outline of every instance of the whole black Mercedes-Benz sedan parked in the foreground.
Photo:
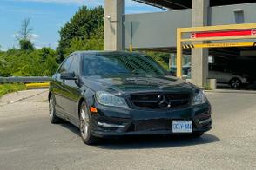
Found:
[(212, 128), (203, 91), (137, 52), (75, 52), (52, 77), (52, 123), (70, 121), (84, 143), (142, 134), (200, 136)]

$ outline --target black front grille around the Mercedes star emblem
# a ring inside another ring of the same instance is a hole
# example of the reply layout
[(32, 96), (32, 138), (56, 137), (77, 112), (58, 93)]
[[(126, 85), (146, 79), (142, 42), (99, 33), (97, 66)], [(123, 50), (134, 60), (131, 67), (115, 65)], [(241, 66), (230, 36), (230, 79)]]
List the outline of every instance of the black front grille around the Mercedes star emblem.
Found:
[(167, 95), (171, 101), (170, 108), (183, 108), (190, 104), (190, 94), (137, 94), (131, 95), (131, 102), (138, 108), (163, 108), (158, 105), (158, 95)]

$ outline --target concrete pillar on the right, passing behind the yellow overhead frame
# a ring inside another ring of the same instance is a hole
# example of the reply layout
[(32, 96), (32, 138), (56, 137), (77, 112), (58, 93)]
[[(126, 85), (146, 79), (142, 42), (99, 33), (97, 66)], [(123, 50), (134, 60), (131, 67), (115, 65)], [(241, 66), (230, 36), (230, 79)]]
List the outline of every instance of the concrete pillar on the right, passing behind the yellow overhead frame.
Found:
[[(192, 0), (192, 27), (208, 25), (209, 6), (209, 0)], [(208, 49), (192, 49), (192, 83), (200, 88), (207, 83), (208, 51)]]

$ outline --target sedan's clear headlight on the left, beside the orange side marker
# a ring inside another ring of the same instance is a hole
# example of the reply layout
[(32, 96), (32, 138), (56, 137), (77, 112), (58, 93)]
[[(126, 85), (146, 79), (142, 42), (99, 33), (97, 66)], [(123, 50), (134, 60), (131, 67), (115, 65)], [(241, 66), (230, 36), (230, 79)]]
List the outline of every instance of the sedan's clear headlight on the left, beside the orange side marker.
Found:
[(100, 104), (104, 106), (128, 108), (124, 98), (118, 97), (116, 95), (112, 95), (108, 92), (104, 92), (104, 91), (96, 92), (96, 99)]

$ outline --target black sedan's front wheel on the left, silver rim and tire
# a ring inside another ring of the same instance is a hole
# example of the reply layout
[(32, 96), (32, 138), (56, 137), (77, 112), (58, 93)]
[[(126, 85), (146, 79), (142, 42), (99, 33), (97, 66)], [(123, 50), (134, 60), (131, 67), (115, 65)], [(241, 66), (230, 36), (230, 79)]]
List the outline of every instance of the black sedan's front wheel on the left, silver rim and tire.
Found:
[(79, 112), (79, 127), (82, 141), (84, 141), (84, 143), (87, 145), (96, 144), (99, 139), (91, 134), (91, 113), (89, 112), (85, 101), (82, 102)]

